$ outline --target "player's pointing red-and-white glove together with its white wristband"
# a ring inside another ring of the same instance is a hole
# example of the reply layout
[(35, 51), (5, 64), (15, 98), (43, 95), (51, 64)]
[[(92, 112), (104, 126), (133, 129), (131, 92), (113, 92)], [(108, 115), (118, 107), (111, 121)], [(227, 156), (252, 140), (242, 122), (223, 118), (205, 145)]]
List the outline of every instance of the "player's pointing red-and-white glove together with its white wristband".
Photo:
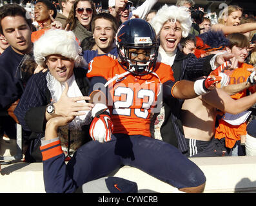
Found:
[(196, 80), (194, 84), (194, 90), (197, 95), (203, 95), (204, 93), (208, 93), (212, 86), (216, 86), (217, 83), (221, 84), (221, 88), (223, 86), (228, 86), (230, 82), (230, 77), (223, 73), (224, 69), (228, 67), (228, 62), (224, 62), (217, 69), (213, 70), (210, 75), (206, 79)]

